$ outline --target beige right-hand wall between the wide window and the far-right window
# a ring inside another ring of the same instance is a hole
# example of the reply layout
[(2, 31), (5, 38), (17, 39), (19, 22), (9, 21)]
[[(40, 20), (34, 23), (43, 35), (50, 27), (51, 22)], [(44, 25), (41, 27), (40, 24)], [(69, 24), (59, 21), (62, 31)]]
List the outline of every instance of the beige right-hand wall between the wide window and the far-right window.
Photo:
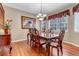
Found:
[(77, 44), (79, 45), (79, 32), (75, 32), (74, 30), (74, 14), (72, 13), (72, 7), (70, 8), (70, 19), (69, 19), (69, 22), (68, 22), (68, 28), (69, 28), (69, 38), (68, 38), (68, 41), (69, 42), (72, 42), (74, 44)]

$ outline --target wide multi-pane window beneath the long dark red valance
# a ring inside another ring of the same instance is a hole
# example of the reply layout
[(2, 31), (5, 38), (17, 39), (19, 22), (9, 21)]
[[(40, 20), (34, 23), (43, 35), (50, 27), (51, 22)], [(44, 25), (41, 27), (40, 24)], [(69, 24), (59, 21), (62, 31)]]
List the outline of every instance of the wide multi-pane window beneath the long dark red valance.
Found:
[(62, 28), (67, 31), (68, 27), (68, 15), (62, 16), (61, 18), (55, 18), (49, 20), (49, 27), (53, 31), (60, 31)]

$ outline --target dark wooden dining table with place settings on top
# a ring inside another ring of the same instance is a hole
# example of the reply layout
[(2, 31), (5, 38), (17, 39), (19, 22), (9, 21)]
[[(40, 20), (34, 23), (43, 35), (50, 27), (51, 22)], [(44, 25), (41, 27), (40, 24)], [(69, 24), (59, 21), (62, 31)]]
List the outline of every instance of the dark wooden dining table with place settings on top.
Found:
[(50, 43), (58, 38), (58, 34), (52, 34), (52, 33), (40, 33), (39, 38), (42, 40), (46, 40), (46, 52), (47, 55), (50, 56)]

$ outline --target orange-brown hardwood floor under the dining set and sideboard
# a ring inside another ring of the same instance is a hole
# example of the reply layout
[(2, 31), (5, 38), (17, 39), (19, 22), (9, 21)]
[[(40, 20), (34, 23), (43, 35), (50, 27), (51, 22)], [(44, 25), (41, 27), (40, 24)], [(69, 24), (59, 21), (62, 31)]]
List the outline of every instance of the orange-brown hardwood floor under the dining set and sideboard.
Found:
[[(41, 49), (41, 53), (38, 52), (37, 48), (32, 48), (29, 46), (27, 41), (15, 42), (12, 43), (12, 52), (11, 56), (46, 56), (44, 49)], [(52, 52), (52, 51), (51, 51)], [(79, 56), (79, 47), (75, 47), (71, 44), (63, 44), (63, 56)], [(56, 56), (56, 49), (53, 51), (53, 56)], [(0, 55), (9, 56), (9, 49), (4, 48), (0, 49)], [(61, 55), (61, 53), (60, 53)]]

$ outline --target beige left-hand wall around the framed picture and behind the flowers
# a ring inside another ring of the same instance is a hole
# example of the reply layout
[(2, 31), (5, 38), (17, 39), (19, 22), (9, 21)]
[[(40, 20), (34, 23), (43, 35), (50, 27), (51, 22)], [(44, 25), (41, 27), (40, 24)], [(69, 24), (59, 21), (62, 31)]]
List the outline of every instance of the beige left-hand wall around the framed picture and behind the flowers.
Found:
[(12, 41), (27, 39), (27, 29), (21, 29), (21, 16), (34, 17), (32, 14), (29, 14), (24, 11), (20, 11), (14, 8), (3, 6), (5, 10), (5, 20), (12, 18), (11, 25), (11, 37)]

